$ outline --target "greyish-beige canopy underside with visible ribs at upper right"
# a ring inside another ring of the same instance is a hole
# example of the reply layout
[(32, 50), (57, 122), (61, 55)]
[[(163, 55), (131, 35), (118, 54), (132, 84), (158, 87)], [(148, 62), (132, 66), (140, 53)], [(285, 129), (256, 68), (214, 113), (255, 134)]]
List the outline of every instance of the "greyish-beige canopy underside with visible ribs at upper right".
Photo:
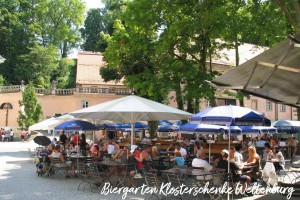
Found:
[(300, 107), (300, 34), (214, 79), (212, 85), (243, 90), (278, 103)]

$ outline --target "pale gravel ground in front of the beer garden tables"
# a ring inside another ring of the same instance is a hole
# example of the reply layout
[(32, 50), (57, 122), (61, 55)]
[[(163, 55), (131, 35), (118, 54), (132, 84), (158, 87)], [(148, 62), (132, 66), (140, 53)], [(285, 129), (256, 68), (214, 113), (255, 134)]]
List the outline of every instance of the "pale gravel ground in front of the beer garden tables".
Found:
[[(35, 166), (29, 162), (28, 148), (34, 149), (37, 145), (31, 142), (0, 142), (0, 199), (122, 199), (122, 194), (101, 194), (86, 191), (78, 191), (80, 183), (78, 178), (66, 179), (65, 177), (38, 177)], [(203, 197), (209, 199), (208, 197)], [(203, 199), (198, 197), (197, 199)], [(145, 199), (141, 194), (128, 194), (126, 199)], [(155, 197), (150, 198), (155, 199)], [(182, 199), (196, 199), (183, 196)], [(227, 199), (226, 197), (224, 199)], [(278, 194), (255, 195), (253, 197), (234, 196), (231, 199), (243, 200), (279, 200), (286, 199)], [(292, 198), (296, 199), (296, 198)]]

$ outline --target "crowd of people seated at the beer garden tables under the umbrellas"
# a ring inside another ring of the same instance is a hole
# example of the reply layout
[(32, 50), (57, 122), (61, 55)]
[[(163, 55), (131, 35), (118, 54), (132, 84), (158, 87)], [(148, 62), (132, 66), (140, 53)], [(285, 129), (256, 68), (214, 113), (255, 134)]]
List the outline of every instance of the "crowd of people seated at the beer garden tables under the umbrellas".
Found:
[[(280, 142), (274, 138), (257, 138), (257, 141), (249, 141), (247, 138), (244, 143), (236, 143), (230, 149), (223, 149), (219, 156), (212, 156), (209, 160), (205, 153), (204, 144), (207, 138), (187, 139), (182, 138), (180, 141), (171, 143), (164, 154), (151, 143), (151, 140), (143, 145), (126, 144), (120, 147), (115, 140), (107, 139), (106, 141), (99, 141), (93, 144), (86, 142), (85, 134), (79, 135), (76, 132), (74, 135), (67, 137), (64, 132), (60, 133), (58, 140), (54, 140), (48, 146), (46, 155), (46, 163), (49, 164), (51, 157), (60, 158), (61, 162), (66, 163), (66, 177), (69, 178), (69, 171), (71, 169), (72, 176), (76, 177), (76, 163), (66, 162), (64, 155), (70, 152), (81, 153), (83, 156), (91, 158), (92, 162), (98, 163), (99, 170), (106, 170), (105, 166), (99, 164), (99, 160), (113, 160), (124, 164), (132, 164), (133, 168), (118, 168), (112, 167), (106, 173), (102, 180), (99, 180), (99, 185), (106, 181), (113, 175), (118, 175), (127, 170), (132, 177), (130, 184), (135, 185), (133, 177), (138, 174), (143, 174), (149, 170), (163, 170), (172, 167), (184, 167), (190, 164), (192, 168), (201, 168), (204, 171), (210, 172), (215, 168), (224, 169), (227, 173), (231, 173), (232, 182), (242, 182), (243, 190), (247, 184), (261, 179), (261, 167), (271, 159), (278, 159), (284, 161), (284, 155), (280, 151)], [(264, 142), (262, 142), (264, 141)], [(282, 142), (282, 140), (281, 140)], [(257, 153), (257, 146), (264, 145), (264, 150), (261, 155)], [(289, 145), (297, 146), (295, 138), (286, 140)], [(282, 145), (282, 144), (281, 144)], [(167, 154), (167, 156), (165, 156)], [(168, 160), (168, 166), (162, 164), (161, 159)], [(156, 162), (152, 162), (156, 161)], [(190, 163), (189, 163), (190, 161)], [(156, 163), (156, 164), (155, 164)], [(228, 172), (228, 164), (230, 171)], [(284, 162), (274, 162), (276, 170), (284, 168)], [(121, 170), (121, 171), (120, 171)], [(123, 171), (123, 172), (122, 172)], [(201, 177), (198, 177), (201, 179)], [(203, 178), (203, 177), (202, 177)], [(209, 178), (208, 178), (209, 179)], [(251, 195), (250, 193), (245, 195)]]

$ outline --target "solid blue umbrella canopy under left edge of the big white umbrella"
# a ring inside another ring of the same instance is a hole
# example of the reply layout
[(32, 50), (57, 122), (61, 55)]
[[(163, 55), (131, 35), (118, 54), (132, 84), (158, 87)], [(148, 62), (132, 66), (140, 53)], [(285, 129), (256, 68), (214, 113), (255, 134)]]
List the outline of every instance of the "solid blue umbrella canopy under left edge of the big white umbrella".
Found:
[(95, 131), (98, 130), (98, 128), (86, 121), (82, 120), (72, 120), (64, 122), (58, 126), (55, 127), (55, 130), (65, 130), (65, 131)]

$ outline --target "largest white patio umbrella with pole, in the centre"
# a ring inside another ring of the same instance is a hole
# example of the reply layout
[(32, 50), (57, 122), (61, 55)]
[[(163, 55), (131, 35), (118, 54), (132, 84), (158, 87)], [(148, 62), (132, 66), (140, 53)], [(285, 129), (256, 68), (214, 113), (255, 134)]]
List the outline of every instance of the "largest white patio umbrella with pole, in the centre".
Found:
[(191, 113), (135, 95), (115, 99), (69, 113), (77, 118), (102, 119), (131, 124), (131, 145), (137, 121), (188, 119)]

